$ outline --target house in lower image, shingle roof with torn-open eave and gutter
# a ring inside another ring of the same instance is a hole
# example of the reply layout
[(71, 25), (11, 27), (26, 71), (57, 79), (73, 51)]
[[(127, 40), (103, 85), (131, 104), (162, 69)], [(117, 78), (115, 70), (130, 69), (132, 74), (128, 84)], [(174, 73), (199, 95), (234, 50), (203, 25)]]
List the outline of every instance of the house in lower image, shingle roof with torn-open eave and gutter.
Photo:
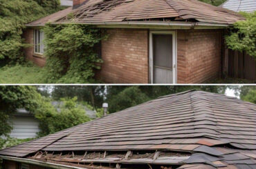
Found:
[(4, 169), (256, 168), (256, 105), (190, 90), (0, 151)]

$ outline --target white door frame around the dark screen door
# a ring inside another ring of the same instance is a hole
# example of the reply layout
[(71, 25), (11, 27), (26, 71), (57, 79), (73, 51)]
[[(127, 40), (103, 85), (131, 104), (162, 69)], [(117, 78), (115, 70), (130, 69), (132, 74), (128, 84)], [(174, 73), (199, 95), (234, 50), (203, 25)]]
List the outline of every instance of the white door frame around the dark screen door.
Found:
[(153, 34), (172, 34), (172, 73), (173, 79), (172, 83), (177, 83), (177, 40), (176, 40), (176, 31), (174, 30), (149, 30), (149, 78), (150, 83), (153, 82), (154, 70), (153, 70)]

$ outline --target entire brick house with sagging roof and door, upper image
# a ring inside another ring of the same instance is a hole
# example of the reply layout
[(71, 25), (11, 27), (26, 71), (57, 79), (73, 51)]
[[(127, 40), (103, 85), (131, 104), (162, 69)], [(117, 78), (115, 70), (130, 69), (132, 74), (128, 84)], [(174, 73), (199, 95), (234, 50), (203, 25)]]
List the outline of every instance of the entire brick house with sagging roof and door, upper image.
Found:
[[(70, 19), (69, 13), (75, 18)], [(104, 61), (96, 77), (106, 83), (203, 83), (221, 76), (223, 32), (244, 19), (196, 0), (73, 0), (73, 7), (28, 23), (27, 59), (44, 66), (47, 22), (102, 28)]]

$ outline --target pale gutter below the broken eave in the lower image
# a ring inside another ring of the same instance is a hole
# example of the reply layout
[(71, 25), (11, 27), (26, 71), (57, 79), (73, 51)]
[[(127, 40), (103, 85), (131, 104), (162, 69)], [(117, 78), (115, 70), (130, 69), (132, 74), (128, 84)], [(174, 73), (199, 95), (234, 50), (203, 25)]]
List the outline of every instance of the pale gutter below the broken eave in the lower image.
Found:
[(2, 156), (0, 155), (1, 159), (6, 159), (9, 161), (17, 161), (20, 163), (28, 163), (28, 164), (33, 164), (36, 166), (43, 166), (46, 168), (55, 168), (55, 169), (70, 169), (70, 168), (75, 168), (75, 169), (86, 169), (86, 168), (80, 168), (80, 167), (75, 167), (75, 166), (66, 166), (58, 163), (48, 163), (48, 162), (43, 162), (43, 161), (37, 161), (34, 159), (24, 159), (24, 158), (19, 158), (19, 157), (8, 157), (8, 156)]

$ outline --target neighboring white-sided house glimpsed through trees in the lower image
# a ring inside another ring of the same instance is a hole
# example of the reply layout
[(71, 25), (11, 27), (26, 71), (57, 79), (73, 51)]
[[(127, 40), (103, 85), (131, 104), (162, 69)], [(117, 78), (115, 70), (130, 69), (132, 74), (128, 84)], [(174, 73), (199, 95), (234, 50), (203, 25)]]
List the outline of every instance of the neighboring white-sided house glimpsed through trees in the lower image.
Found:
[[(53, 106), (60, 110), (60, 105), (62, 102), (53, 101)], [(82, 106), (86, 112), (86, 115), (91, 119), (96, 118), (96, 112), (90, 110), (86, 106)], [(35, 119), (33, 113), (21, 108), (18, 109), (14, 116), (10, 117), (10, 123), (12, 125), (12, 131), (10, 132), (10, 137), (17, 139), (27, 139), (37, 137), (37, 132), (39, 132), (39, 121)]]

